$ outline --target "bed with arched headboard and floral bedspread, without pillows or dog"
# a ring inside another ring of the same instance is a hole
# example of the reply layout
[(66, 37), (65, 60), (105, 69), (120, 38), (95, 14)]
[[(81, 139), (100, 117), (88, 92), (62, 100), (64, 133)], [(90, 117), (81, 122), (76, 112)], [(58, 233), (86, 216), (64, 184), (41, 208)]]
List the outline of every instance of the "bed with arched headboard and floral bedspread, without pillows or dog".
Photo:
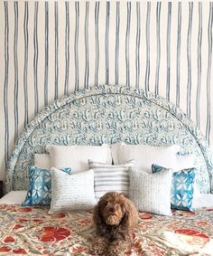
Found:
[(213, 156), (208, 142), (171, 102), (118, 85), (71, 92), (43, 109), (23, 130), (7, 167), (6, 193), (11, 197), (0, 200), (0, 253), (89, 255), (95, 233), (92, 207), (50, 213), (50, 206), (18, 202), (29, 189), (34, 156), (45, 154), (47, 145), (96, 147), (120, 142), (178, 145), (179, 156), (194, 156), (199, 191), (195, 211), (172, 209), (171, 216), (140, 211), (126, 255), (213, 255)]

